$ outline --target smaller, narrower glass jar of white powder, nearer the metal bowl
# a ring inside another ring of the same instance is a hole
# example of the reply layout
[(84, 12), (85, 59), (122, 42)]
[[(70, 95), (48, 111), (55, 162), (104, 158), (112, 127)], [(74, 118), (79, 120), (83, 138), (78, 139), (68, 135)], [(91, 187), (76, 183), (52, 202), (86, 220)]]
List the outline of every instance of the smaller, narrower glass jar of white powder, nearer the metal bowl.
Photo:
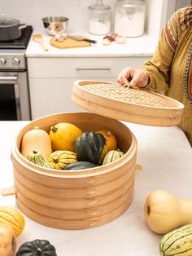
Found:
[(89, 6), (89, 33), (104, 35), (111, 31), (111, 7), (98, 0)]

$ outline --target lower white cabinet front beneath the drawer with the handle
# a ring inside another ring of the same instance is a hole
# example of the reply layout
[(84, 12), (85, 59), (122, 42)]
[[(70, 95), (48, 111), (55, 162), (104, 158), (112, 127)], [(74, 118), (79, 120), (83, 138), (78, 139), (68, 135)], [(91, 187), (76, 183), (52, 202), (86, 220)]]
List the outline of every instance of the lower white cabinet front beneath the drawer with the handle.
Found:
[[(72, 86), (78, 78), (29, 79), (32, 119), (53, 113), (83, 112), (72, 102)], [(98, 81), (116, 82), (115, 78), (97, 78)]]

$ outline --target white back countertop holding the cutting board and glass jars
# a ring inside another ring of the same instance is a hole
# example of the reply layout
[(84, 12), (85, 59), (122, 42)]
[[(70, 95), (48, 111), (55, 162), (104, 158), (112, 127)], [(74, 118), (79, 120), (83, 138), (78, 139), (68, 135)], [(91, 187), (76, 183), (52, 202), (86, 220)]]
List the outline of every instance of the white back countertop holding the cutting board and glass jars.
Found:
[[(39, 33), (33, 31), (33, 33)], [(44, 42), (49, 51), (44, 51), (38, 42), (31, 38), (26, 56), (33, 57), (151, 57), (155, 51), (156, 40), (147, 34), (137, 38), (127, 38), (126, 43), (118, 44), (111, 42), (110, 46), (103, 46), (103, 37), (96, 36), (87, 32), (70, 32), (70, 34), (78, 34), (97, 41), (96, 44), (86, 47), (59, 49), (50, 45), (50, 38), (47, 33), (42, 33)]]

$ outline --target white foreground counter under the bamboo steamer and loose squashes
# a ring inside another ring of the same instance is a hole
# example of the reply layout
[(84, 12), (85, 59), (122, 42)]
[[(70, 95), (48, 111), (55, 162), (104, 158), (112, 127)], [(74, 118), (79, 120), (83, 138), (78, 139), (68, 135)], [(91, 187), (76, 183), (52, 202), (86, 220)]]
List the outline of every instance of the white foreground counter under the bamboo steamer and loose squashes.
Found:
[[(11, 143), (28, 121), (1, 121), (0, 189), (13, 185)], [(155, 189), (167, 189), (181, 198), (191, 197), (191, 148), (178, 127), (151, 127), (126, 123), (137, 138), (137, 163), (133, 203), (119, 218), (101, 227), (68, 231), (45, 227), (25, 218), (24, 232), (17, 247), (25, 241), (47, 239), (58, 256), (158, 256), (162, 236), (146, 226), (143, 206)], [(17, 209), (15, 196), (0, 196), (0, 205)]]

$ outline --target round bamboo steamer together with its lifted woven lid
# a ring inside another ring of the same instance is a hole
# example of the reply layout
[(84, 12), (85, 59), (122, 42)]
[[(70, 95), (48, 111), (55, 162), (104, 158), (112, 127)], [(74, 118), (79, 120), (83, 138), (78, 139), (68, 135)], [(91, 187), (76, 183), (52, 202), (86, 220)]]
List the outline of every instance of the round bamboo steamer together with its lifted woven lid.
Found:
[[(83, 229), (111, 222), (133, 201), (137, 140), (122, 121), (177, 126), (184, 106), (174, 99), (110, 82), (76, 81), (72, 100), (91, 113), (58, 113), (31, 121), (12, 144), (15, 198), (29, 218), (49, 227)], [(83, 131), (111, 130), (124, 157), (87, 170), (50, 170), (20, 153), (23, 135), (59, 122)]]

